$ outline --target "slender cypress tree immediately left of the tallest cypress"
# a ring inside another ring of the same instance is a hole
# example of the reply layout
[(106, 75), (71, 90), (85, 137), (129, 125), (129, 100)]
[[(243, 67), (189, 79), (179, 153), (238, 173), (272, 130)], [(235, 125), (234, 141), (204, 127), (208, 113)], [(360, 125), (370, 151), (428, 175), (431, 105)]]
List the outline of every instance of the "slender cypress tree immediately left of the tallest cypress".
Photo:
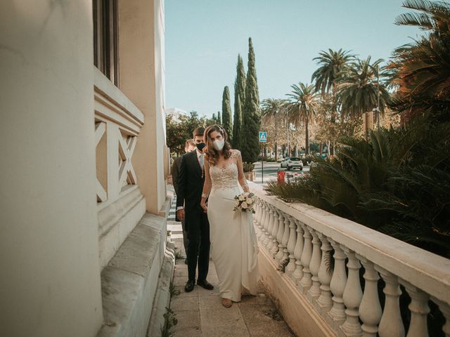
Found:
[(233, 147), (242, 147), (242, 109), (245, 101), (245, 70), (244, 62), (238, 55), (236, 66), (236, 80), (234, 81), (234, 119), (233, 119)]

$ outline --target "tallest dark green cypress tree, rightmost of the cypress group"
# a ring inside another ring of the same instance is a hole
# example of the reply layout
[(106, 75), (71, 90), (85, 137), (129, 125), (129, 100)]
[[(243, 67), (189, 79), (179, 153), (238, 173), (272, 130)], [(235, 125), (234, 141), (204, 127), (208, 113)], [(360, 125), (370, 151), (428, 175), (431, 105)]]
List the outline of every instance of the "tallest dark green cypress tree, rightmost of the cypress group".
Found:
[(255, 52), (253, 51), (251, 37), (248, 39), (248, 69), (242, 119), (242, 158), (245, 163), (251, 164), (257, 161), (259, 157), (259, 127), (261, 126)]

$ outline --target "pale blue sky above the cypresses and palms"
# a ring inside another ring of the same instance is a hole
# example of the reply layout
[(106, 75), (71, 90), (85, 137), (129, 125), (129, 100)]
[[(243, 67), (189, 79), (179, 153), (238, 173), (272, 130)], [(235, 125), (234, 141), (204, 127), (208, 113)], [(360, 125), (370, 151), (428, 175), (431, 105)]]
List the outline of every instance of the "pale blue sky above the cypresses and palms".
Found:
[(165, 0), (166, 107), (211, 117), (231, 92), (238, 54), (255, 49), (259, 98), (285, 98), (311, 82), (320, 51), (340, 48), (388, 60), (415, 27), (394, 25), (401, 0)]

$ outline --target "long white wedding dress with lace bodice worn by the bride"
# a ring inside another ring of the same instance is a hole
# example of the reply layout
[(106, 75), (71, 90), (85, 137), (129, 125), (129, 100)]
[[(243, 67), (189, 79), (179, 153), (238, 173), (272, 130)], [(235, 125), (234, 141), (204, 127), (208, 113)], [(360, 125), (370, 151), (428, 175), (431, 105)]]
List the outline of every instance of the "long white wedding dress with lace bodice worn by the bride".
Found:
[(236, 164), (240, 152), (232, 151), (229, 164), (210, 166), (212, 190), (208, 199), (208, 220), (220, 296), (238, 302), (242, 294), (256, 294), (259, 271), (252, 213), (233, 211), (234, 197), (243, 190), (238, 183)]

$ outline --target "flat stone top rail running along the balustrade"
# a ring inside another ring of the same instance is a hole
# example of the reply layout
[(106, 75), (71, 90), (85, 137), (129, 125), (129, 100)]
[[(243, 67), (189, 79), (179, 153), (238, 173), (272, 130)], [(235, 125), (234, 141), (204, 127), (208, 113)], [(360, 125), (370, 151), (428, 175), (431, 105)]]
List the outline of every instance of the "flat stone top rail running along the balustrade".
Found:
[(450, 260), (303, 203), (286, 203), (249, 183), (259, 199), (346, 246), (418, 289), (450, 304)]

